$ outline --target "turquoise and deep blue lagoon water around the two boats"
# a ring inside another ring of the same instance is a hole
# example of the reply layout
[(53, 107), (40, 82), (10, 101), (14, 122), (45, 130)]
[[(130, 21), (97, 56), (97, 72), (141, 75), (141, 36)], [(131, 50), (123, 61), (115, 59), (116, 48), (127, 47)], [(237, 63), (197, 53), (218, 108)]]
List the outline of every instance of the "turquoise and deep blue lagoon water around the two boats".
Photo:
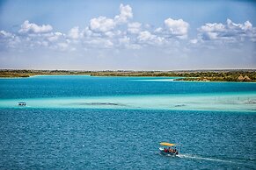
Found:
[[(0, 79), (0, 168), (255, 169), (255, 113), (256, 83)], [(181, 144), (179, 157), (159, 154), (161, 141)]]

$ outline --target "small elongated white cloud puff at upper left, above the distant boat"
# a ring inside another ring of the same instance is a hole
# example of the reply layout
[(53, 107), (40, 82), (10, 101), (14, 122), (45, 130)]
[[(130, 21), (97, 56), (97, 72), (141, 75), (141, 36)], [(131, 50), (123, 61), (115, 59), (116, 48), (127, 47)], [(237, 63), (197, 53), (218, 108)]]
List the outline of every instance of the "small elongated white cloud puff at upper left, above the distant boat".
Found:
[(22, 25), (18, 32), (20, 33), (45, 33), (45, 32), (51, 32), (53, 30), (53, 27), (51, 25), (36, 25), (33, 23), (29, 23), (28, 20), (26, 20)]

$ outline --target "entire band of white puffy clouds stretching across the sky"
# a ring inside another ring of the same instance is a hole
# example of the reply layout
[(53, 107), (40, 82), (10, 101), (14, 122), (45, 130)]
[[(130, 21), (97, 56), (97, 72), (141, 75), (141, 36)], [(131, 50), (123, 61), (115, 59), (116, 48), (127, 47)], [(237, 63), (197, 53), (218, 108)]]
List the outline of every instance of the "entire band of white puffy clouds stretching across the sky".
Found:
[(256, 28), (249, 21), (236, 24), (227, 19), (225, 24), (207, 23), (197, 29), (196, 39), (187, 39), (189, 24), (181, 18), (166, 18), (163, 25), (156, 27), (141, 24), (132, 18), (132, 8), (121, 4), (120, 13), (115, 17), (91, 18), (89, 25), (85, 25), (84, 29), (71, 27), (66, 34), (53, 32), (51, 25), (37, 25), (26, 20), (16, 33), (0, 31), (0, 43), (1, 46), (19, 46), (24, 49), (43, 47), (70, 51), (84, 48), (140, 49), (145, 46), (162, 46), (166, 49), (166, 46), (174, 46), (174, 42), (200, 46), (201, 43), (210, 41), (256, 41)]

